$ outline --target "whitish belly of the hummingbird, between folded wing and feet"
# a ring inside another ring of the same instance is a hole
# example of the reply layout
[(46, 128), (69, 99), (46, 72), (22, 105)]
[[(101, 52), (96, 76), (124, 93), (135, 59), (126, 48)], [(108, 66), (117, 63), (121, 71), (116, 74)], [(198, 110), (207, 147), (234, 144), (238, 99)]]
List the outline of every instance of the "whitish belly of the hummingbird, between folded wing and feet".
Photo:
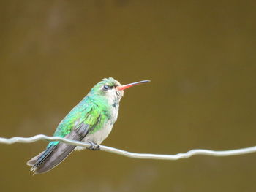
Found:
[[(83, 142), (94, 142), (97, 145), (100, 145), (110, 134), (110, 131), (112, 130), (113, 124), (108, 122), (104, 128), (101, 128), (99, 131), (96, 131), (94, 134), (86, 135), (86, 137), (83, 139)], [(83, 150), (86, 147), (75, 147), (75, 150)]]

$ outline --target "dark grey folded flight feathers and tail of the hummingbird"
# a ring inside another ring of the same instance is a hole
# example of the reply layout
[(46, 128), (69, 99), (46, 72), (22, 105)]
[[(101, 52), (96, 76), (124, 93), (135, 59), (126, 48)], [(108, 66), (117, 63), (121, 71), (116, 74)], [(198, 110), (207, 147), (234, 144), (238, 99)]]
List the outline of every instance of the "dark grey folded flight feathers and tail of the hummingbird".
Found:
[[(70, 134), (66, 135), (65, 138), (81, 141), (88, 134), (89, 127), (90, 126), (88, 124), (80, 123), (78, 128), (74, 128)], [(31, 171), (34, 171), (34, 174), (48, 172), (50, 169), (53, 169), (54, 166), (57, 166), (61, 161), (67, 158), (75, 147), (75, 145), (59, 142), (58, 145), (51, 145), (48, 147), (42, 155), (40, 153), (37, 157), (28, 161), (27, 164), (32, 166)]]

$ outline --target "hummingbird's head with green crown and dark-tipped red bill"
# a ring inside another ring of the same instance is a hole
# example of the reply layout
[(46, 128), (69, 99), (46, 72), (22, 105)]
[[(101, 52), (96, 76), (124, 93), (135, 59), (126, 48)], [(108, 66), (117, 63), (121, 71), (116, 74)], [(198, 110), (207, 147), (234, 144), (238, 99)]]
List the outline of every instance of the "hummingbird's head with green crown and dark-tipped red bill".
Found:
[(130, 88), (134, 85), (139, 85), (144, 82), (149, 82), (149, 80), (143, 80), (140, 82), (133, 82), (127, 85), (121, 85), (120, 82), (113, 79), (112, 77), (104, 78), (102, 81), (98, 82), (91, 89), (91, 93), (98, 96), (104, 96), (109, 101), (119, 102), (121, 97), (124, 96), (124, 89)]

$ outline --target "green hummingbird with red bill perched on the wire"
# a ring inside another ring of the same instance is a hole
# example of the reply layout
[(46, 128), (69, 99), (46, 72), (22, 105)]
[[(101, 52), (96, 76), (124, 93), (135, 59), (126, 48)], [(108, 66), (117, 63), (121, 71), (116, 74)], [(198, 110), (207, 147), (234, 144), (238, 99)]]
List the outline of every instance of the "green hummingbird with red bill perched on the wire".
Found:
[[(99, 145), (108, 137), (116, 122), (124, 89), (145, 82), (149, 80), (121, 85), (112, 77), (103, 79), (61, 120), (53, 136), (89, 142), (89, 149), (99, 150)], [(73, 150), (85, 148), (59, 141), (49, 142), (42, 153), (26, 164), (32, 166), (34, 174), (42, 174), (64, 161)]]

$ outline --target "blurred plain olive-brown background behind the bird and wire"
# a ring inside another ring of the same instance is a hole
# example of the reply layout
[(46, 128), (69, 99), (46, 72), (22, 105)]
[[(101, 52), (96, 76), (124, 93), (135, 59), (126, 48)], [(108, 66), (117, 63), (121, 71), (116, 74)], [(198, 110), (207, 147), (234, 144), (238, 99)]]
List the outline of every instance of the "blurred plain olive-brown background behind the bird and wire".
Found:
[[(256, 145), (255, 1), (0, 1), (0, 137), (52, 135), (103, 77), (126, 91), (103, 145)], [(83, 150), (42, 175), (47, 142), (0, 145), (1, 191), (255, 191), (256, 154), (139, 160)]]

